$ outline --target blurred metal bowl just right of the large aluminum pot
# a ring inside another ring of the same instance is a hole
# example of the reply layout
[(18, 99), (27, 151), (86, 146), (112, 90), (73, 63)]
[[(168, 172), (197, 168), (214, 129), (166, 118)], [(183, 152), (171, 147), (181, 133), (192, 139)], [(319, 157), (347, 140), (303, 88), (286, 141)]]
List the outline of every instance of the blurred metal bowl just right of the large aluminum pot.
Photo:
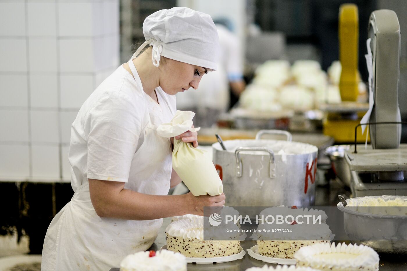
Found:
[(332, 168), (338, 179), (350, 187), (350, 168), (345, 160), (345, 151), (350, 149), (350, 145), (334, 145), (325, 149), (324, 154), (332, 162)]

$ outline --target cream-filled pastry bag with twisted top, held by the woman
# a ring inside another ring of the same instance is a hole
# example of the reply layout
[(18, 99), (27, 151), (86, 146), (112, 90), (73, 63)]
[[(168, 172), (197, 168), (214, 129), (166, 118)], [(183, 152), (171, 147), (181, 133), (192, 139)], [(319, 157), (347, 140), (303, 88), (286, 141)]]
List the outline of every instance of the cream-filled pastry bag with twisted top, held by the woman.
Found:
[[(157, 133), (171, 138), (186, 131), (199, 131), (200, 128), (192, 128), (194, 116), (194, 112), (177, 110), (171, 122), (158, 126)], [(174, 139), (173, 168), (194, 196), (222, 194), (222, 181), (207, 151)]]

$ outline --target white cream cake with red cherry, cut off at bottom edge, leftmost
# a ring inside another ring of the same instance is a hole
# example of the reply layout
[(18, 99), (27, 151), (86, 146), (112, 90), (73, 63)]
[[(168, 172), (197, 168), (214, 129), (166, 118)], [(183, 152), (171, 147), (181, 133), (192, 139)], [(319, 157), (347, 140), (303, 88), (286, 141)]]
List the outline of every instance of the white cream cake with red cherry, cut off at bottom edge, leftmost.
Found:
[(126, 256), (120, 263), (120, 271), (186, 271), (186, 258), (180, 253), (140, 251)]

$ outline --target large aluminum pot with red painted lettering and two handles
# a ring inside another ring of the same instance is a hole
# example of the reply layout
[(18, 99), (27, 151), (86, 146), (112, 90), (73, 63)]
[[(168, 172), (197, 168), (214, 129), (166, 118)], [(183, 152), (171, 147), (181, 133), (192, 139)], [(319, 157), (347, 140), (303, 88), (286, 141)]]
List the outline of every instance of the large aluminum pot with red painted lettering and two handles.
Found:
[[(291, 136), (286, 131), (278, 133)], [(262, 139), (226, 140), (223, 144), (226, 151), (219, 143), (212, 144), (212, 149), (226, 205), (306, 207), (315, 203), (316, 146)]]

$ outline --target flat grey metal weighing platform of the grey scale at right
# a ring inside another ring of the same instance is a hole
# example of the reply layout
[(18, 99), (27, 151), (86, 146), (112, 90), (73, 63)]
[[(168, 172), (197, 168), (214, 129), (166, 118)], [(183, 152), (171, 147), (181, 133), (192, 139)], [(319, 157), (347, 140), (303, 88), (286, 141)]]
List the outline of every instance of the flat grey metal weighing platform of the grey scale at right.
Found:
[(398, 149), (372, 149), (371, 145), (357, 145), (345, 151), (345, 159), (352, 171), (404, 171), (407, 170), (407, 144)]

